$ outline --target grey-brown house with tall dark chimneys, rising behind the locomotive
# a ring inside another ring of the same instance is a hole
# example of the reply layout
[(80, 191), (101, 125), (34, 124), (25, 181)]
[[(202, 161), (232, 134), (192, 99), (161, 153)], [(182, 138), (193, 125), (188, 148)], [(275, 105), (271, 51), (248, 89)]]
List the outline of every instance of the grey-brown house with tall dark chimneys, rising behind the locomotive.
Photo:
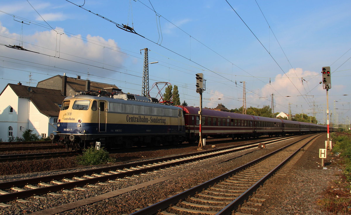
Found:
[(57, 75), (39, 81), (37, 87), (60, 90), (62, 91), (62, 95), (65, 96), (75, 95), (81, 91), (101, 89), (111, 91), (111, 93), (121, 92), (121, 89), (119, 89), (116, 85), (104, 84), (90, 80), (83, 80), (80, 79), (80, 76), (77, 76), (77, 78), (71, 78), (67, 77), (65, 73), (63, 76)]

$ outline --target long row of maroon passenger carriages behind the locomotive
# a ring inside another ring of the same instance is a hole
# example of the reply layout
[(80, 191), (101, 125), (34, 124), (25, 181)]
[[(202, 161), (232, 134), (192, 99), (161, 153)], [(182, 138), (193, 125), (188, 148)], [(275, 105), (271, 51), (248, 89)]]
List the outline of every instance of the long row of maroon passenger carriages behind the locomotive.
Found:
[[(190, 143), (198, 141), (200, 130), (199, 108), (181, 106), (183, 109), (185, 136)], [(202, 136), (250, 138), (263, 135), (279, 136), (326, 131), (326, 126), (307, 122), (274, 119), (262, 116), (202, 110)]]

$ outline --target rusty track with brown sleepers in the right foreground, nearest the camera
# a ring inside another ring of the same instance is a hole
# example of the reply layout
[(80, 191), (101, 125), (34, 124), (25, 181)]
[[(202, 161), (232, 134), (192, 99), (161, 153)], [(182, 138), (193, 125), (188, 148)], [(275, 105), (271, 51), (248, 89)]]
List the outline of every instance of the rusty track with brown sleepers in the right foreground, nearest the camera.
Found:
[[(251, 198), (245, 206), (241, 204), (314, 138), (307, 143), (302, 142), (305, 138), (295, 141), (203, 184), (140, 209), (132, 215), (156, 214), (160, 210), (162, 212), (159, 214), (164, 215), (186, 213), (221, 215), (233, 214), (238, 209), (244, 210), (245, 214), (257, 211), (264, 198)], [(235, 212), (235, 214), (243, 213)]]

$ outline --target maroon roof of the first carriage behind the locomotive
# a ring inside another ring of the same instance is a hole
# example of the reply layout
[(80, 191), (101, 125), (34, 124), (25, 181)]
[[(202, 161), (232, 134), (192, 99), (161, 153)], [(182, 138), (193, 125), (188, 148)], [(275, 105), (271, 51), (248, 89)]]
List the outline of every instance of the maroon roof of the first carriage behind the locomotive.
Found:
[[(189, 106), (182, 106), (182, 105), (178, 105), (178, 107), (182, 108), (186, 113), (196, 114), (196, 115), (199, 114), (199, 110), (200, 110), (200, 108), (197, 108), (197, 107), (189, 107)], [(229, 117), (229, 118), (235, 118), (235, 119), (252, 120), (251, 115), (224, 112), (219, 110), (202, 109), (202, 114), (206, 116)]]

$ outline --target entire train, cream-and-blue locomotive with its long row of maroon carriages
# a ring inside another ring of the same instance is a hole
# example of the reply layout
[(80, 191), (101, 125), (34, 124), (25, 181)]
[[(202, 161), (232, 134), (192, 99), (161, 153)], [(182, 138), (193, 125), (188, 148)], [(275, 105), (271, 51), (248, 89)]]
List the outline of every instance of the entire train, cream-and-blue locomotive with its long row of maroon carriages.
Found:
[[(202, 109), (202, 138), (251, 138), (326, 132), (323, 125)], [(121, 92), (88, 91), (62, 102), (57, 134), (50, 139), (73, 148), (111, 148), (195, 143), (199, 108), (168, 106), (155, 98)]]

